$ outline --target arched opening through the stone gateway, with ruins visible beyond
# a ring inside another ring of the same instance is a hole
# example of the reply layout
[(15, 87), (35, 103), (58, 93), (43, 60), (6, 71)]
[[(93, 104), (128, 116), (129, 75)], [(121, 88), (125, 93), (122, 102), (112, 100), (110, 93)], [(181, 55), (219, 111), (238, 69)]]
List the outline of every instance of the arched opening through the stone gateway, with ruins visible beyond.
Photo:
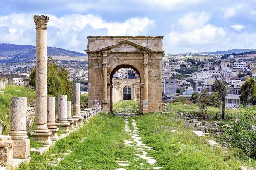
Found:
[[(140, 113), (141, 79), (132, 65), (119, 65), (110, 74), (110, 112)], [(131, 108), (134, 108), (131, 111)]]

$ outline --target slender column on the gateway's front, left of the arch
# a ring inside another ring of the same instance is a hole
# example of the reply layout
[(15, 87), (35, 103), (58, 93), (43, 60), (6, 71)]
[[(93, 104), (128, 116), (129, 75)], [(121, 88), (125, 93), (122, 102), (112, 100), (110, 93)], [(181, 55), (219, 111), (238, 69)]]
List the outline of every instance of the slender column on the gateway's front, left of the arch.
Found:
[(102, 112), (108, 113), (108, 77), (107, 77), (107, 53), (103, 52), (102, 55), (103, 65), (103, 100), (102, 100)]

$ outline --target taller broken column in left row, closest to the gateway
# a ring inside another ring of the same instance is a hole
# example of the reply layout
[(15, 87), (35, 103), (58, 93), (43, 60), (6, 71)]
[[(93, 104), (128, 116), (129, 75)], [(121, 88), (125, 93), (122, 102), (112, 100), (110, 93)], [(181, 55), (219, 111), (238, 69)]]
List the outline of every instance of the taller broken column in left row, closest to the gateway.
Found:
[(78, 125), (83, 125), (83, 119), (80, 114), (80, 83), (73, 84), (73, 118), (78, 119)]

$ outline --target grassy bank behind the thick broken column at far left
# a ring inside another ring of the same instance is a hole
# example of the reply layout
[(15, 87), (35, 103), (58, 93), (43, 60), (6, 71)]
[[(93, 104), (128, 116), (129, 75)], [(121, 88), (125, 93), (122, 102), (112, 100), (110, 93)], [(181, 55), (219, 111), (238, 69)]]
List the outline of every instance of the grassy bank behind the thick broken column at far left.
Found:
[(8, 86), (0, 93), (0, 120), (3, 121), (3, 135), (10, 131), (10, 105), (12, 97), (26, 97), (27, 103), (35, 102), (35, 90), (23, 86)]

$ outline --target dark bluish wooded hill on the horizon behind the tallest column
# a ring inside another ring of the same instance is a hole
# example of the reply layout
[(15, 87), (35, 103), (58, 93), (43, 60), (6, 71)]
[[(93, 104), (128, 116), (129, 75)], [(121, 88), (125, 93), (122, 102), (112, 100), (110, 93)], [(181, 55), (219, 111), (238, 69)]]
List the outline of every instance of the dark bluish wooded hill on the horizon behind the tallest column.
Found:
[[(47, 47), (47, 56), (87, 56), (85, 53)], [(0, 63), (33, 61), (36, 58), (36, 47), (32, 45), (15, 45), (0, 43)]]

